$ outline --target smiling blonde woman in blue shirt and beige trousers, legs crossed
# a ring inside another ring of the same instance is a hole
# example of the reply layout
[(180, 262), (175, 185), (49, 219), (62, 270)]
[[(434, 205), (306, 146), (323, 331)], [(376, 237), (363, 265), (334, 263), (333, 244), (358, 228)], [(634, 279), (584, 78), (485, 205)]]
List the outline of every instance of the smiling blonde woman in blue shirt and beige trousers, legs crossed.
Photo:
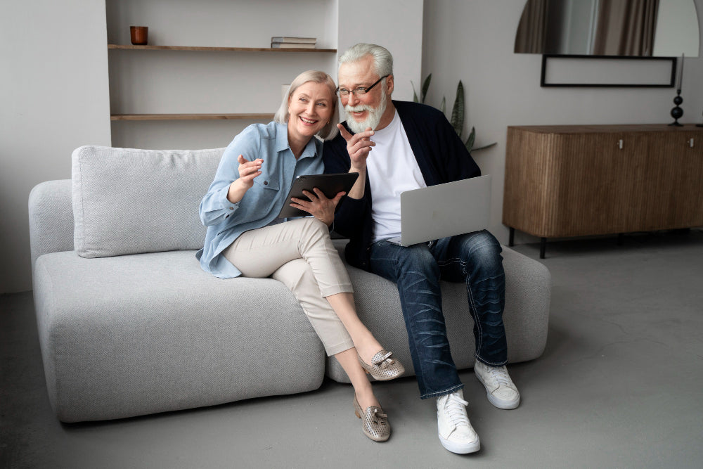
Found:
[[(271, 276), (290, 288), (328, 355), (349, 375), (363, 432), (385, 441), (390, 426), (366, 373), (390, 380), (404, 368), (356, 315), (349, 275), (330, 240), (344, 193), (328, 199), (315, 188), (304, 193), (310, 200), (285, 200), (296, 176), (323, 172), (322, 139), (337, 134), (337, 122), (333, 79), (316, 70), (298, 75), (274, 121), (250, 125), (222, 155), (200, 203), (207, 235), (198, 259), (219, 278)], [(285, 203), (311, 217), (277, 219)]]

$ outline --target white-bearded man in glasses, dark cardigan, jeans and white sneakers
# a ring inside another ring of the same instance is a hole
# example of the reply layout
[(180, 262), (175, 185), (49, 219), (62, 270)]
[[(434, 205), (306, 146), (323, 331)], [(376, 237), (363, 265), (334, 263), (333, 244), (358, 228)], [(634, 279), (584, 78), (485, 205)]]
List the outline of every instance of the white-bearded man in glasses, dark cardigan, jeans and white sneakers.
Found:
[(340, 58), (338, 79), (347, 121), (325, 142), (325, 172), (359, 172), (359, 179), (335, 216), (335, 231), (349, 237), (349, 264), (398, 285), (420, 398), (437, 399), (441, 444), (454, 453), (478, 451), (446, 337), (439, 280), (465, 283), (475, 374), (491, 404), (515, 409), (520, 393), (505, 369), (501, 246), (488, 231), (408, 247), (393, 238), (401, 231), (401, 192), (479, 176), (479, 167), (439, 110), (391, 100), (387, 49), (356, 44)]

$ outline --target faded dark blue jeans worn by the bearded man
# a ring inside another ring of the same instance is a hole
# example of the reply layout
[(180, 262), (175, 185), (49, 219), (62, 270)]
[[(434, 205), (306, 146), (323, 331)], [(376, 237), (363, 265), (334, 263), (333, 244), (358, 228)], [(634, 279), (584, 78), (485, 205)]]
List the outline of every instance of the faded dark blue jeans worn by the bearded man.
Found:
[(407, 247), (387, 240), (371, 245), (370, 270), (398, 285), (420, 399), (463, 387), (446, 337), (440, 279), (466, 284), (474, 320), (476, 358), (494, 366), (508, 361), (501, 250), (498, 240), (488, 231)]

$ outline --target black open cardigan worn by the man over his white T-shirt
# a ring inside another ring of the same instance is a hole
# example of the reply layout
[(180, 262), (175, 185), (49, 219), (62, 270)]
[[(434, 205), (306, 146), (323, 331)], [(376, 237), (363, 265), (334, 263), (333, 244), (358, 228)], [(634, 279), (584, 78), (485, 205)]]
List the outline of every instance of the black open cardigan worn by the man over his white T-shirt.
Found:
[[(441, 111), (428, 105), (407, 101), (393, 101), (393, 104), (427, 186), (481, 175), (478, 165)], [(344, 127), (347, 127), (346, 122)], [(373, 157), (373, 150), (371, 155)], [(325, 142), (323, 160), (326, 173), (349, 171), (351, 160), (347, 153), (347, 141), (341, 135)], [(368, 270), (369, 250), (373, 240), (368, 174), (363, 198), (356, 200), (344, 197), (340, 203), (340, 208), (335, 214), (334, 229), (349, 238), (344, 250), (347, 262)]]

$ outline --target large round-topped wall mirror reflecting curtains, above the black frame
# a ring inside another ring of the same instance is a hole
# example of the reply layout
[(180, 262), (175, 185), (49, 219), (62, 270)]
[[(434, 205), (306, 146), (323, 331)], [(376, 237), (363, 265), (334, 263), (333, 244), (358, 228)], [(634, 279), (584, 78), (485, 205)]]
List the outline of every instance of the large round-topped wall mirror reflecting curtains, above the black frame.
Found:
[(671, 57), (699, 54), (693, 0), (528, 0), (515, 53)]

